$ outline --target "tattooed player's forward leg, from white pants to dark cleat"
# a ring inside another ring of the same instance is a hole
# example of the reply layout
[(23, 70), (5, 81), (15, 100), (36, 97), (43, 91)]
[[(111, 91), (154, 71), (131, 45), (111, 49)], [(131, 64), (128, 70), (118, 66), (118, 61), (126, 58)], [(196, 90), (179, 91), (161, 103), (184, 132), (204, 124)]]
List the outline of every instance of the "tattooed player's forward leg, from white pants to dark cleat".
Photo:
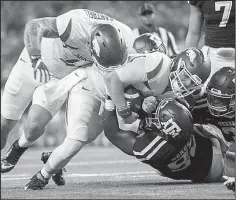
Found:
[[(58, 80), (54, 79), (47, 83), (46, 86), (53, 85), (57, 81)], [(4, 172), (12, 170), (27, 148), (43, 134), (45, 126), (61, 108), (67, 97), (65, 95), (55, 102), (48, 103), (44, 88), (45, 86), (40, 86), (34, 92), (32, 106), (29, 109), (23, 133), (20, 138), (13, 143), (5, 156), (5, 165), (8, 164), (11, 167)]]

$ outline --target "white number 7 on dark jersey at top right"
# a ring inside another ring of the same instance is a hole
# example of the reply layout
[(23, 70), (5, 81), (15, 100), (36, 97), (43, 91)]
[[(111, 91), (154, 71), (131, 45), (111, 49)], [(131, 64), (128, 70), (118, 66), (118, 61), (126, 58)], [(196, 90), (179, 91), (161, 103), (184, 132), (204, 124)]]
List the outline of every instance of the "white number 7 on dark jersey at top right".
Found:
[(232, 1), (215, 2), (215, 11), (220, 11), (221, 7), (224, 7), (224, 12), (219, 27), (226, 27), (226, 24), (229, 20), (229, 14), (232, 8)]

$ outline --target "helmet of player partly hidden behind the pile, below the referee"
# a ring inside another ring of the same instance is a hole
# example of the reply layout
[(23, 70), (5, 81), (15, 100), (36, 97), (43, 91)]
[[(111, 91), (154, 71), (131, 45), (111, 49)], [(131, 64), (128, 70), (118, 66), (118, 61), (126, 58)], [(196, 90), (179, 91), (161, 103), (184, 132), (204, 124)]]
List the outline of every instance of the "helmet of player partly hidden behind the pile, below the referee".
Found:
[(133, 48), (137, 53), (152, 53), (155, 51), (166, 54), (166, 48), (156, 33), (144, 33), (134, 41)]

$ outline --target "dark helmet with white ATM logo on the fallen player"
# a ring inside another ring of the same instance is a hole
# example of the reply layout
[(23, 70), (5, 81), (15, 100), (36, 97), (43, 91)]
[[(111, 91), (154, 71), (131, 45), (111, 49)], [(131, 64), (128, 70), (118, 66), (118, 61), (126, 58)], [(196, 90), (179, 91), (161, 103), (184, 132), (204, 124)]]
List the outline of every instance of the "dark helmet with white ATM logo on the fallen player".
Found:
[(173, 99), (162, 100), (156, 110), (146, 117), (149, 127), (161, 130), (165, 139), (188, 140), (193, 132), (193, 118), (189, 110)]

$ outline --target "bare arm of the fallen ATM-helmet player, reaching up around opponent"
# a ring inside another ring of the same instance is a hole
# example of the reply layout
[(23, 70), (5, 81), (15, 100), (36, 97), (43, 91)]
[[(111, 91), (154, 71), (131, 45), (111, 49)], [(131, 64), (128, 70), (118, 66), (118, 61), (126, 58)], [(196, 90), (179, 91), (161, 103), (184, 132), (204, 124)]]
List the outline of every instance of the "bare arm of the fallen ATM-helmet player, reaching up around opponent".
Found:
[[(106, 102), (107, 103), (107, 102)], [(108, 140), (124, 153), (133, 156), (136, 133), (120, 130), (115, 109), (104, 112), (104, 134)]]

